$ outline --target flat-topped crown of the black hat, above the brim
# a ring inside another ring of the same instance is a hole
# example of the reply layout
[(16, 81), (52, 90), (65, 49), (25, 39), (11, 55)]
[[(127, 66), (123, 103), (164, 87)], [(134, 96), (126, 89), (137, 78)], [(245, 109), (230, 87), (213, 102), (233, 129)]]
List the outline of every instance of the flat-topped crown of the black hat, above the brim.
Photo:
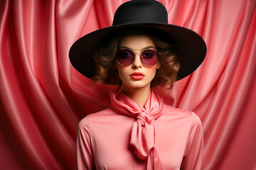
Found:
[(112, 26), (126, 23), (168, 23), (168, 13), (158, 1), (127, 1), (114, 13)]

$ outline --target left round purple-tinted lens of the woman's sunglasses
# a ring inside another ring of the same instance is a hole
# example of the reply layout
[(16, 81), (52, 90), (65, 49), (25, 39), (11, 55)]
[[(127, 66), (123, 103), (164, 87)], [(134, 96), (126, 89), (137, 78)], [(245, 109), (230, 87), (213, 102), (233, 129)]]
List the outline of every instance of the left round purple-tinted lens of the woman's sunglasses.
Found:
[(134, 60), (134, 53), (130, 50), (119, 50), (119, 52), (117, 52), (117, 61), (122, 64), (122, 65), (129, 65), (132, 64)]

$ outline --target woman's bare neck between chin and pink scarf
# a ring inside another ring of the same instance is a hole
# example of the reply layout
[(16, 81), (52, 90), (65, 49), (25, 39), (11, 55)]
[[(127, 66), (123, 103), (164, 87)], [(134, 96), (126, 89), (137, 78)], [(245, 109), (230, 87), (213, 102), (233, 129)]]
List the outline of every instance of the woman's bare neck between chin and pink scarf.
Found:
[(144, 86), (141, 88), (133, 88), (133, 87), (123, 85), (122, 91), (134, 102), (144, 107), (147, 99), (149, 98), (150, 84), (149, 86)]

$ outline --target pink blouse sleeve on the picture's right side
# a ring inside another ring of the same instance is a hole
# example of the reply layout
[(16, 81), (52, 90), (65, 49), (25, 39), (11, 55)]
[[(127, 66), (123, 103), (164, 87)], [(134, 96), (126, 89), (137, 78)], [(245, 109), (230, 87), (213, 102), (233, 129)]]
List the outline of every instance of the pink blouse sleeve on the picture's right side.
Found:
[(186, 144), (181, 169), (203, 169), (203, 128), (201, 120), (193, 113), (191, 130)]

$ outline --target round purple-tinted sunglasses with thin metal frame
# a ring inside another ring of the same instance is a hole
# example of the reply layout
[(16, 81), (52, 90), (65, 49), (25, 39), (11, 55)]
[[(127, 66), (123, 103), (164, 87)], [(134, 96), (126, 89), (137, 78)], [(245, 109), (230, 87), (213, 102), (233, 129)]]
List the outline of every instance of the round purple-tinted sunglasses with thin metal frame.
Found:
[[(136, 52), (137, 54), (139, 52)], [(121, 49), (116, 54), (116, 59), (119, 64), (123, 66), (128, 66), (134, 62), (135, 54), (132, 50), (129, 49)], [(159, 61), (159, 53), (154, 49), (146, 49), (140, 53), (140, 59), (142, 64), (145, 66), (154, 66)]]

